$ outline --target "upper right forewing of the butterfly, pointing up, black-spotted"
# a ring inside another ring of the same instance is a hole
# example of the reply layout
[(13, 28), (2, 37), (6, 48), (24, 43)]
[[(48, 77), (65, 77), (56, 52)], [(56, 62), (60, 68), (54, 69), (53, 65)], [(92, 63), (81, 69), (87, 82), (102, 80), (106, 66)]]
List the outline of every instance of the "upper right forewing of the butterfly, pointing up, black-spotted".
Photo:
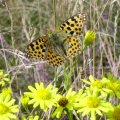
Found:
[(64, 30), (71, 35), (79, 35), (86, 22), (86, 14), (81, 13), (72, 16), (60, 26), (60, 30)]

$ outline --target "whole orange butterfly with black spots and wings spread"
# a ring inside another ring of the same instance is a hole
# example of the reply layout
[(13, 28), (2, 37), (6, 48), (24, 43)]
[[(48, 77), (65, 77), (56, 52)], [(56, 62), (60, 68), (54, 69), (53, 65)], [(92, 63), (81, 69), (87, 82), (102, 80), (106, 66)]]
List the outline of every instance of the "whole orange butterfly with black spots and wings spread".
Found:
[(52, 44), (52, 42), (58, 41), (59, 36), (54, 35), (54, 39), (51, 41), (51, 38), (53, 37), (44, 35), (28, 44), (25, 49), (27, 57), (48, 61), (49, 64), (54, 67), (60, 66), (66, 58), (74, 57), (81, 52), (81, 42), (75, 36), (80, 35), (85, 22), (86, 15), (81, 13), (72, 16), (60, 25), (60, 31), (65, 31), (71, 35), (63, 38), (62, 44), (66, 43), (67, 46), (65, 49), (63, 46), (64, 55), (60, 54), (59, 52), (55, 52), (57, 49), (56, 46), (62, 46), (61, 42), (58, 42), (55, 45)]

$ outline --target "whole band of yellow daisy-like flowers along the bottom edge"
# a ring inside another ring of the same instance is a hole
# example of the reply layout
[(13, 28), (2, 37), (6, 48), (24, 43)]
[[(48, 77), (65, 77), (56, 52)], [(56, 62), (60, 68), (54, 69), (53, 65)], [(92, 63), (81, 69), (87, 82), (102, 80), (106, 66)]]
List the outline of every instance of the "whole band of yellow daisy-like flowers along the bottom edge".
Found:
[[(120, 105), (113, 106), (109, 99), (120, 98), (120, 82), (117, 77), (110, 73), (107, 77), (96, 79), (92, 75), (89, 80), (82, 80), (87, 87), (73, 91), (71, 88), (63, 94), (58, 93), (58, 88), (52, 84), (45, 86), (43, 83), (35, 83), (35, 87), (28, 86), (30, 92), (25, 92), (21, 97), (21, 104), (27, 113), (30, 113), (29, 106), (34, 109), (42, 109), (50, 112), (52, 119), (67, 115), (72, 120), (73, 114), (81, 114), (82, 117), (90, 116), (91, 120), (96, 120), (98, 116), (107, 115), (109, 120), (119, 120)], [(31, 106), (32, 105), (32, 106)], [(33, 110), (34, 110), (33, 109)], [(12, 98), (10, 88), (2, 89), (0, 93), (0, 120), (16, 120), (18, 105)], [(20, 116), (21, 120), (40, 120), (41, 117), (36, 111), (29, 116)]]

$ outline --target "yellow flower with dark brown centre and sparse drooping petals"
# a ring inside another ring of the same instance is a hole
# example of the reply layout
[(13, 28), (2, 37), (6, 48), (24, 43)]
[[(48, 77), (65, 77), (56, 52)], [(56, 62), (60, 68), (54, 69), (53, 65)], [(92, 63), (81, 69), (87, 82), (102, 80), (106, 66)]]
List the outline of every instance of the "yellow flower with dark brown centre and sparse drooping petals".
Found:
[(52, 117), (55, 116), (60, 118), (62, 113), (66, 113), (74, 109), (74, 104), (76, 100), (76, 92), (69, 89), (65, 96), (60, 95), (56, 104), (57, 109), (52, 114)]

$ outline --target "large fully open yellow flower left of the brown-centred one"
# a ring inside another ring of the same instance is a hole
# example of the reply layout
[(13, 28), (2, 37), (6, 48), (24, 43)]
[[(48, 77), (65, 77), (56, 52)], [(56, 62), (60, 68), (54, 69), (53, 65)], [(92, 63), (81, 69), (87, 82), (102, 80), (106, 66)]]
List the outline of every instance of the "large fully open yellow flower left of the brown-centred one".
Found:
[(33, 104), (34, 108), (40, 105), (40, 108), (46, 111), (55, 104), (58, 89), (52, 89), (51, 84), (45, 88), (43, 83), (40, 85), (35, 83), (35, 88), (32, 86), (28, 86), (28, 88), (31, 92), (25, 92), (25, 95), (31, 98), (29, 104)]

